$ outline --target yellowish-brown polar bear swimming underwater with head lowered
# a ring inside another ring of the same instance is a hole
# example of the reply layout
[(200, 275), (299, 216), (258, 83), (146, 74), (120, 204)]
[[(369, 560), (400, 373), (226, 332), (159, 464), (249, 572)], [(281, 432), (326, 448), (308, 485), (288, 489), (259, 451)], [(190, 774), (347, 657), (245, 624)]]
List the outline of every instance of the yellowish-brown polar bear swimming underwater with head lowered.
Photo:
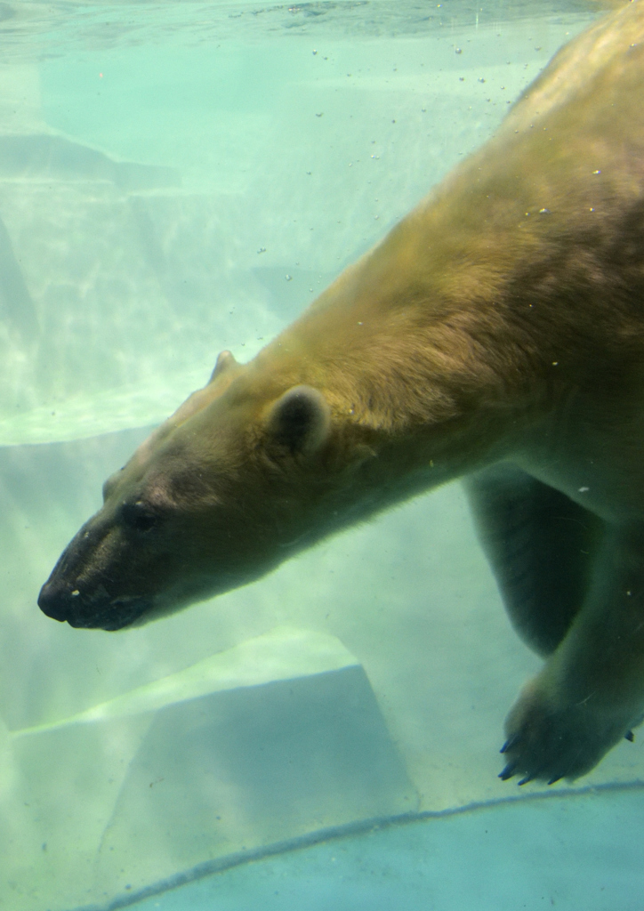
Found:
[(591, 26), (495, 138), (250, 363), (221, 353), (104, 487), (39, 605), (117, 630), (259, 578), (456, 477), (545, 659), (521, 782), (644, 712), (644, 4)]

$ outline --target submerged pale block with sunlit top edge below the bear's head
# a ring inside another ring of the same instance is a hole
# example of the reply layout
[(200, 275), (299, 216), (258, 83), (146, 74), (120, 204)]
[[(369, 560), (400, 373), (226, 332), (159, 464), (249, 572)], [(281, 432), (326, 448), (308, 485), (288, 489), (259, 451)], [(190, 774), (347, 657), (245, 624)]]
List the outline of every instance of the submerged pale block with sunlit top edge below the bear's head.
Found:
[(213, 858), (418, 804), (363, 668), (332, 636), (302, 630), (5, 731), (0, 746), (0, 898), (12, 911), (107, 903)]

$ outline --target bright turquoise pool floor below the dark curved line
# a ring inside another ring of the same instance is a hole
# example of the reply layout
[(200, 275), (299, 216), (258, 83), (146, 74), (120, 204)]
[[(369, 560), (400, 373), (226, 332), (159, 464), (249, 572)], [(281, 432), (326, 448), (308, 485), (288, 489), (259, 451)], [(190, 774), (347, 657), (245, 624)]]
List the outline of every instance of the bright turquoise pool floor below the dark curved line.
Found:
[(276, 855), (135, 911), (643, 911), (644, 790), (552, 795)]

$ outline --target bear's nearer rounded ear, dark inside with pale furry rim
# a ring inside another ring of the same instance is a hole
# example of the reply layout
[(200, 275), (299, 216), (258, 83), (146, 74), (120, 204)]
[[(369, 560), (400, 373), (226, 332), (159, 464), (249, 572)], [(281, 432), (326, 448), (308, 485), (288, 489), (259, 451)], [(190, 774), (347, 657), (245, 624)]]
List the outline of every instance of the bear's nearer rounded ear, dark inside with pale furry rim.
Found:
[(312, 386), (293, 386), (273, 404), (267, 429), (291, 453), (312, 453), (329, 433), (331, 409)]

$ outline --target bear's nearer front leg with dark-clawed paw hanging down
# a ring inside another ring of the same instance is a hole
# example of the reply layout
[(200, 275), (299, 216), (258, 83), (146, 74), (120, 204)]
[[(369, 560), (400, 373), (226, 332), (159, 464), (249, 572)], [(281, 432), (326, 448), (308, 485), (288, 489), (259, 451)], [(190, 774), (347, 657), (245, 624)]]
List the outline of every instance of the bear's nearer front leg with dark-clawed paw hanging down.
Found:
[(644, 712), (644, 528), (609, 531), (585, 603), (506, 719), (504, 780), (589, 772)]

